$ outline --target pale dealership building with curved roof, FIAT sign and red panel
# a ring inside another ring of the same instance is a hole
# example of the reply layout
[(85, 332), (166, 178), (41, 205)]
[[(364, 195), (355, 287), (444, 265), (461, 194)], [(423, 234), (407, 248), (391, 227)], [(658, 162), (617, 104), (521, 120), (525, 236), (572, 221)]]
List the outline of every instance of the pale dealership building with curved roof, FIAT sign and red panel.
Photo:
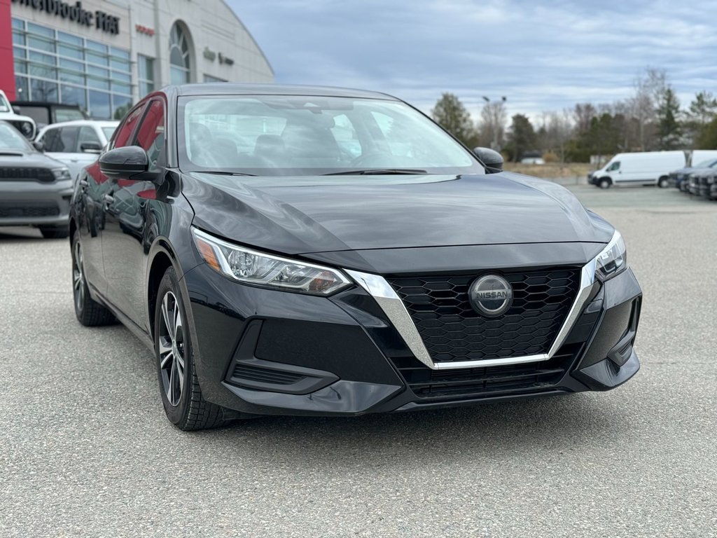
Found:
[(223, 0), (0, 0), (0, 89), (118, 118), (167, 84), (273, 82)]

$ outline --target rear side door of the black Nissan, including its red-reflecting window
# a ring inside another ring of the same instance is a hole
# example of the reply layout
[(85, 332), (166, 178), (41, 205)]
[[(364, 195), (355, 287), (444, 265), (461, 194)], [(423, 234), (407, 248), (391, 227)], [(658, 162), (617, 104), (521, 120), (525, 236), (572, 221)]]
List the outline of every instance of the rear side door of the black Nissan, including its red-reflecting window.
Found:
[[(143, 108), (130, 112), (123, 123), (115, 131), (110, 147), (122, 147), (132, 140), (134, 131), (141, 118)], [(54, 136), (54, 135), (53, 135)], [(57, 133), (59, 136), (59, 133)], [(105, 276), (104, 260), (102, 255), (102, 235), (105, 227), (105, 208), (107, 197), (112, 190), (112, 181), (100, 171), (97, 155), (95, 161), (80, 171), (77, 176), (77, 196), (80, 198), (80, 212), (82, 218), (78, 223), (80, 241), (82, 242), (82, 255), (85, 264), (87, 281), (103, 296), (107, 293), (107, 278)]]

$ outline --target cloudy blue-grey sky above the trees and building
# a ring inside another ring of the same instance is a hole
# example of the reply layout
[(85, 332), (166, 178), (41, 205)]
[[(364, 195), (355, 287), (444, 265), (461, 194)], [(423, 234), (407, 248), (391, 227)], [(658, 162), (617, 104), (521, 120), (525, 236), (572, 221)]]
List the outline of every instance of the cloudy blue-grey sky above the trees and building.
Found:
[(429, 110), (442, 92), (477, 113), (610, 103), (645, 67), (687, 105), (717, 93), (717, 2), (641, 0), (228, 0), (276, 82), (380, 90)]

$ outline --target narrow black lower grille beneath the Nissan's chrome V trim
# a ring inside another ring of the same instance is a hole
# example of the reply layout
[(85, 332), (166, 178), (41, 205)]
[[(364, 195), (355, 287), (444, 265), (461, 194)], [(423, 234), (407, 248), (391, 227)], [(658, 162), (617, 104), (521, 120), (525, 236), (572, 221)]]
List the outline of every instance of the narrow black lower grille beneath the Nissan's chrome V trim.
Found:
[(496, 392), (539, 392), (556, 383), (570, 369), (582, 344), (562, 346), (547, 361), (488, 368), (433, 370), (414, 357), (391, 359), (406, 384), (419, 398), (453, 398)]

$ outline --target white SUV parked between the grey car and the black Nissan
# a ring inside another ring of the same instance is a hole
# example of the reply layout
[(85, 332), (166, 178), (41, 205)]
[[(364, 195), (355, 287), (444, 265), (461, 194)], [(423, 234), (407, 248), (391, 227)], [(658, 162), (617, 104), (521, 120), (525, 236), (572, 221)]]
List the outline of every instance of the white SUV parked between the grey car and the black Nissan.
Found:
[(97, 160), (119, 121), (63, 121), (43, 127), (37, 135), (45, 154), (64, 163), (72, 179)]

